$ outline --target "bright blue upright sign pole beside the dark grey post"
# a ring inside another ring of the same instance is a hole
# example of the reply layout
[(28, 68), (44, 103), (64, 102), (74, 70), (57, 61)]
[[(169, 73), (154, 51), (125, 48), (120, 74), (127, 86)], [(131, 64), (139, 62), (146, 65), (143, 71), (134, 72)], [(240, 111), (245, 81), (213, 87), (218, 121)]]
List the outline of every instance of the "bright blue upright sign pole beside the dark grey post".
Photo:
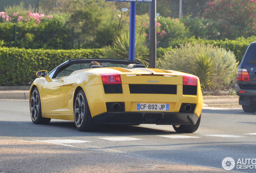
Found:
[(130, 2), (129, 60), (135, 60), (135, 16), (136, 2)]

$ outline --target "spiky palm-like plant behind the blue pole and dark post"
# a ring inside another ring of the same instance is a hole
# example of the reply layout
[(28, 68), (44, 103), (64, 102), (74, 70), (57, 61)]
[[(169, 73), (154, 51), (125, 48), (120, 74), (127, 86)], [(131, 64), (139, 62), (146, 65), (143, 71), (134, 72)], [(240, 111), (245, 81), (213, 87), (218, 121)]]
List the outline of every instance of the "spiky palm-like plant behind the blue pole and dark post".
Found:
[[(135, 35), (135, 60), (149, 64), (149, 48), (144, 35)], [(113, 46), (103, 47), (104, 58), (129, 59), (129, 33), (122, 32), (113, 40)]]

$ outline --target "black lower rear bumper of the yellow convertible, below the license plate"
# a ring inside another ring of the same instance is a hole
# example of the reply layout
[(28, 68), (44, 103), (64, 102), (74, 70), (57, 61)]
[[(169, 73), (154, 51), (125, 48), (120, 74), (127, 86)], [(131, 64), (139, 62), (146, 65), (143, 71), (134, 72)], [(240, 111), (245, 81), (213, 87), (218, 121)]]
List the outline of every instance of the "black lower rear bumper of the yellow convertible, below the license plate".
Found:
[(194, 113), (176, 112), (106, 112), (93, 117), (95, 124), (116, 125), (195, 125), (197, 120)]

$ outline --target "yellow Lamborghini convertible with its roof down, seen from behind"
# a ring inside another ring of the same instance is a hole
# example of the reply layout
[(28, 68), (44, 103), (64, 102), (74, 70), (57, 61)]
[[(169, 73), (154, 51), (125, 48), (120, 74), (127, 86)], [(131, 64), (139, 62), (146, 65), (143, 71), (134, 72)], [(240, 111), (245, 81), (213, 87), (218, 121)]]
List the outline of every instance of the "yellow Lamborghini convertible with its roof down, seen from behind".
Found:
[(79, 131), (92, 131), (99, 124), (143, 123), (173, 125), (182, 133), (193, 133), (200, 124), (202, 91), (191, 74), (145, 68), (138, 61), (87, 58), (37, 76), (29, 97), (35, 124), (63, 119), (74, 121)]

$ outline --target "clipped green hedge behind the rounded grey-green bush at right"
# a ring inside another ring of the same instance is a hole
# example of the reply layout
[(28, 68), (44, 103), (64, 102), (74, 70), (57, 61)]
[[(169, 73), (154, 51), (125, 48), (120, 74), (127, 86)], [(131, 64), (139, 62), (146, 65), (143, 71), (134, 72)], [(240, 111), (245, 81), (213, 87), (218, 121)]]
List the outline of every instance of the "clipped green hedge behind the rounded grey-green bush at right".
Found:
[(230, 50), (234, 52), (235, 58), (237, 61), (241, 62), (242, 58), (244, 56), (244, 53), (246, 52), (247, 47), (251, 42), (256, 41), (256, 36), (251, 36), (248, 38), (244, 37), (239, 37), (235, 40), (228, 40), (226, 39), (225, 41), (223, 40), (203, 40), (203, 39), (196, 39), (195, 37), (191, 38), (185, 38), (185, 39), (178, 39), (178, 40), (173, 40), (169, 42), (169, 46), (172, 48), (175, 48), (176, 46), (179, 48), (180, 44), (185, 45), (186, 42), (197, 42), (197, 43), (202, 43), (202, 44), (212, 44), (213, 46), (218, 46), (221, 48), (225, 48), (227, 51)]

